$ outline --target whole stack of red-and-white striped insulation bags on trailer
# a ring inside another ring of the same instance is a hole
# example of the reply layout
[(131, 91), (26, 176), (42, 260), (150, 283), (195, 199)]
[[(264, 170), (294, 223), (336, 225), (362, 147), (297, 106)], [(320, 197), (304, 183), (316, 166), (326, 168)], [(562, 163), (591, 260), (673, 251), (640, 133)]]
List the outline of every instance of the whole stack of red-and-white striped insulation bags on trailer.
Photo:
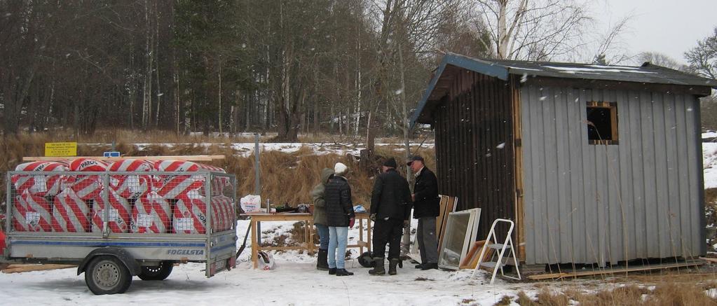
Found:
[[(212, 176), (212, 190), (207, 192), (206, 175), (189, 174), (201, 170), (225, 173), (222, 168), (188, 161), (125, 159), (105, 163), (77, 158), (70, 163), (22, 163), (15, 170), (46, 173), (11, 177), (16, 191), (14, 231), (101, 232), (106, 221), (113, 233), (205, 234), (207, 195), (212, 229), (231, 229), (234, 222), (233, 201), (222, 194), (230, 186), (228, 178)], [(109, 172), (109, 182), (105, 186), (102, 175), (67, 171)], [(109, 203), (103, 198), (105, 187), (109, 187)]]

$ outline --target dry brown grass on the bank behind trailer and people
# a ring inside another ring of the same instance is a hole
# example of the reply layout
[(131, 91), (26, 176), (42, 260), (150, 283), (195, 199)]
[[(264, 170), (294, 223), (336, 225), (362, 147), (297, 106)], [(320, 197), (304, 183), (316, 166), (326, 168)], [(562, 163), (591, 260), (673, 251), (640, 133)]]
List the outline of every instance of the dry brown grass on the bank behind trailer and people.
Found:
[[(304, 137), (304, 136), (302, 136)], [(308, 136), (306, 136), (308, 137)], [(262, 136), (262, 140), (269, 136)], [(317, 135), (314, 139), (321, 140), (330, 138), (330, 135)], [(339, 139), (337, 141), (345, 141)], [(17, 136), (0, 138), (0, 171), (8, 171), (21, 163), (23, 156), (43, 156), (44, 143), (54, 141), (72, 141), (71, 133), (59, 131), (50, 133), (22, 133)], [(224, 160), (211, 163), (214, 166), (224, 168), (227, 173), (237, 176), (237, 196), (245, 196), (254, 193), (254, 156), (243, 157), (242, 152), (237, 152), (231, 143), (252, 142), (253, 138), (222, 138), (204, 136), (176, 136), (174, 133), (165, 131), (153, 131), (149, 133), (136, 133), (126, 130), (98, 131), (91, 137), (85, 137), (78, 141), (78, 155), (80, 156), (101, 156), (110, 150), (111, 141), (115, 140), (115, 149), (125, 156), (174, 156), (174, 155), (223, 155)], [(311, 141), (325, 142), (326, 140)], [(91, 143), (91, 145), (83, 144)], [(176, 143), (168, 147), (161, 144), (143, 145), (143, 148), (133, 143)], [(211, 145), (198, 145), (196, 143), (212, 143)], [(333, 145), (332, 145), (333, 146)], [(341, 145), (338, 145), (341, 148)], [(399, 171), (405, 173), (405, 165), (402, 161), (404, 151), (400, 145), (377, 146), (376, 153), (381, 156), (391, 156), (399, 161)], [(435, 168), (435, 154), (433, 150), (423, 149), (419, 153), (424, 156), (429, 168)], [(282, 153), (280, 151), (265, 151), (261, 153), (261, 178), (262, 199), (270, 199), (273, 204), (281, 206), (289, 204), (296, 206), (302, 203), (310, 203), (310, 191), (319, 181), (319, 174), (322, 168), (333, 168), (337, 162), (345, 163), (350, 172), (346, 176), (353, 192), (355, 204), (367, 206), (370, 200), (371, 188), (375, 170), (359, 169), (359, 164), (354, 158), (339, 156), (329, 153), (317, 155), (311, 148), (301, 148), (294, 153)], [(5, 176), (1, 176), (0, 183), (4, 183)], [(4, 186), (4, 185), (3, 185)], [(4, 196), (4, 188), (0, 188), (0, 196)], [(3, 198), (4, 199), (4, 198)]]

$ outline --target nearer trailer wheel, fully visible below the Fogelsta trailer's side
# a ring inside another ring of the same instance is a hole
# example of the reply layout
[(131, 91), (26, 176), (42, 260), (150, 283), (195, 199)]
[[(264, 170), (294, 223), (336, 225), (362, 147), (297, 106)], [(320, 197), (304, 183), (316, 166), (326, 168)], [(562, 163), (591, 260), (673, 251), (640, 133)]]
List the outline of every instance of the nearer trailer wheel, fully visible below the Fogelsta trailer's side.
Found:
[(95, 295), (114, 295), (129, 289), (132, 275), (120, 259), (102, 255), (93, 258), (87, 265), (85, 283)]

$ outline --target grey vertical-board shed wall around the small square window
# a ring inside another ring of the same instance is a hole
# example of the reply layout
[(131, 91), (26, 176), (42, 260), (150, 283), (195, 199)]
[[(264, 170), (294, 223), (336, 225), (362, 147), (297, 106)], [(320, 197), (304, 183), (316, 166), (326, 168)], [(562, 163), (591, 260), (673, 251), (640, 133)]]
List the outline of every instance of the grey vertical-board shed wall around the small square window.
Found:
[[(699, 102), (669, 92), (521, 88), (526, 263), (704, 252)], [(586, 103), (617, 102), (619, 145), (589, 145)]]

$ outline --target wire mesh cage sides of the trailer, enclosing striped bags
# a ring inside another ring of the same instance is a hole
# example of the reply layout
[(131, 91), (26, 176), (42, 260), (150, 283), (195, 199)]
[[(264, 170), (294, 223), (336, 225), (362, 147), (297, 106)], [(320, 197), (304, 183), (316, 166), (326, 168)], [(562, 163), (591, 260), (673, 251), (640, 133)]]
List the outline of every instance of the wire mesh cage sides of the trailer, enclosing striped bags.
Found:
[(234, 230), (234, 176), (179, 171), (9, 171), (8, 232), (211, 234)]

